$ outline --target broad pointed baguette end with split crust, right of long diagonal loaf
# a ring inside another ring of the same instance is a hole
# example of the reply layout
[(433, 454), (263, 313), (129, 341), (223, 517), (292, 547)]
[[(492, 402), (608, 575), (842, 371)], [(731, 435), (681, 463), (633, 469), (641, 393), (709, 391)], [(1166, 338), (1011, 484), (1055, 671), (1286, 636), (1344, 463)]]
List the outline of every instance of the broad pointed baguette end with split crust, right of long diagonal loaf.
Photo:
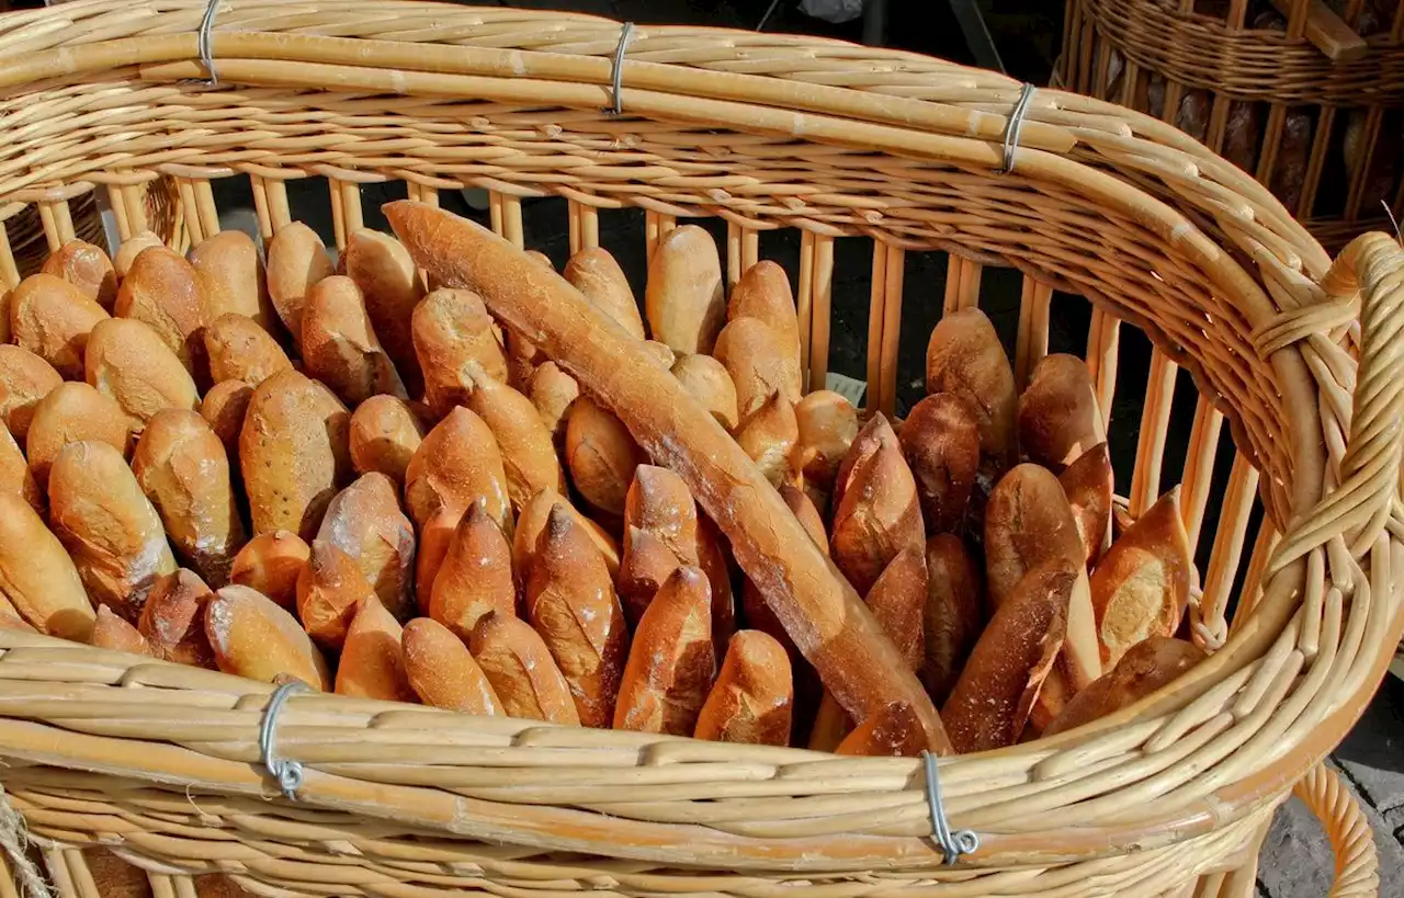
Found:
[[(866, 594), (892, 560), (908, 546), (925, 546), (917, 483), (901, 457), (892, 427), (872, 431), (876, 446), (855, 459), (834, 511), (830, 553), (854, 588)], [(855, 441), (854, 448), (862, 452)]]

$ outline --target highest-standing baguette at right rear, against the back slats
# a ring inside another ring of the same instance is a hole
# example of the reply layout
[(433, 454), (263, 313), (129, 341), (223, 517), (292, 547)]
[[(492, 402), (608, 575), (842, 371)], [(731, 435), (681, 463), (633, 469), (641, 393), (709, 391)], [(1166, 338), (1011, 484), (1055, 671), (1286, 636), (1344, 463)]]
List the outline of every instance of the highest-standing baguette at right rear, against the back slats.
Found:
[(993, 483), (1015, 462), (1018, 394), (1009, 358), (979, 309), (941, 319), (927, 344), (927, 393), (955, 393), (976, 410), (980, 470)]

